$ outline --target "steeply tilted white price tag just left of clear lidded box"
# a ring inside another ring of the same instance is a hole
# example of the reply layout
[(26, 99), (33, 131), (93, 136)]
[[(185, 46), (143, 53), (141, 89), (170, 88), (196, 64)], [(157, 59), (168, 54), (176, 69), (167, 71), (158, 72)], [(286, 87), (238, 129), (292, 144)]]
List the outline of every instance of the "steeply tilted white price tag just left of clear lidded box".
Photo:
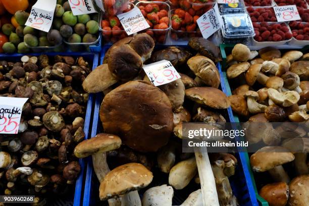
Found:
[(213, 33), (221, 28), (221, 17), (219, 15), (218, 5), (200, 16), (196, 23), (200, 29), (203, 38), (207, 39)]

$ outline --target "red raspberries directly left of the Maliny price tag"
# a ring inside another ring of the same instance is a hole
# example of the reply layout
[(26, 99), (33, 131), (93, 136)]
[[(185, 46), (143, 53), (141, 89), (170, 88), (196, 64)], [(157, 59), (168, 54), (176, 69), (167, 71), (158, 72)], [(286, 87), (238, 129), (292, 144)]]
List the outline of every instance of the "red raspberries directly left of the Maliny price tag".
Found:
[(273, 8), (247, 7), (252, 22), (277, 22), (276, 14)]

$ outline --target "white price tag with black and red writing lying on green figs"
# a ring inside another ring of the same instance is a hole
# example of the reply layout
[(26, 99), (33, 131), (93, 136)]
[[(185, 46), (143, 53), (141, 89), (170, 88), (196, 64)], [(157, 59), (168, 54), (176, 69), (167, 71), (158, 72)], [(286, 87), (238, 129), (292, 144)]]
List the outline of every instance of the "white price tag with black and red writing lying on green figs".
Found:
[(48, 32), (52, 26), (57, 0), (38, 0), (33, 5), (26, 26)]

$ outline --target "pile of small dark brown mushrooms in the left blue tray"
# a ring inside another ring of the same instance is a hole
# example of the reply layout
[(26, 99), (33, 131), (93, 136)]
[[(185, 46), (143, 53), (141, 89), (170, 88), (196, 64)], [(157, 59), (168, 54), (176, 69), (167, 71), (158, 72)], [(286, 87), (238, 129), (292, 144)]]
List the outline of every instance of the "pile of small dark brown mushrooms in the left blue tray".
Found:
[(45, 197), (74, 190), (80, 172), (73, 155), (85, 133), (88, 96), (82, 86), (90, 73), (79, 57), (23, 56), (0, 62), (0, 96), (25, 97), (18, 134), (0, 134), (0, 189), (3, 195)]

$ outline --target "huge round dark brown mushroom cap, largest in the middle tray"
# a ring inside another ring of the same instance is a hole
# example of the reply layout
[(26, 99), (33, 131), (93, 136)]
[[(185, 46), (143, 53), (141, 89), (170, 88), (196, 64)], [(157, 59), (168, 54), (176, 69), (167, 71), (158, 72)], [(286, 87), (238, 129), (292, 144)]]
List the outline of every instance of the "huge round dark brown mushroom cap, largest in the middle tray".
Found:
[(100, 108), (106, 133), (138, 151), (157, 151), (173, 130), (172, 105), (158, 87), (130, 81), (109, 92)]

